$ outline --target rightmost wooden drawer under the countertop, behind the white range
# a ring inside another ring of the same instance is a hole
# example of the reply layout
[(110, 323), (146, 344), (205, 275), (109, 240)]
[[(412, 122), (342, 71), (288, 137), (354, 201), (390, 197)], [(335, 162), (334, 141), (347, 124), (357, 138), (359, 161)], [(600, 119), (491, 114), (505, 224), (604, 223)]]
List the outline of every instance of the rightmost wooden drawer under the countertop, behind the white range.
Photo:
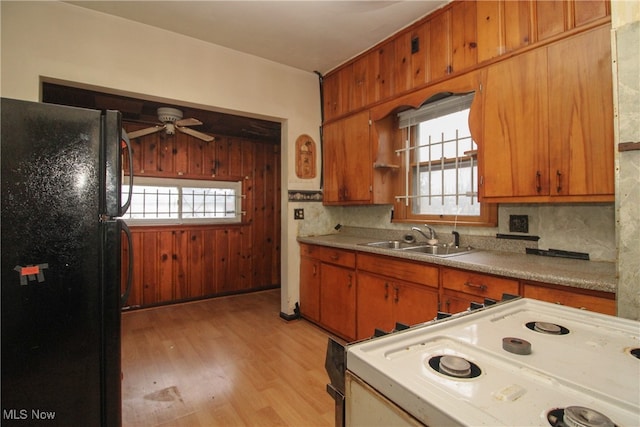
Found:
[(551, 288), (524, 283), (522, 295), (540, 301), (553, 302), (568, 307), (595, 311), (604, 314), (616, 314), (616, 300), (614, 294), (602, 292), (602, 296), (589, 295), (573, 289)]

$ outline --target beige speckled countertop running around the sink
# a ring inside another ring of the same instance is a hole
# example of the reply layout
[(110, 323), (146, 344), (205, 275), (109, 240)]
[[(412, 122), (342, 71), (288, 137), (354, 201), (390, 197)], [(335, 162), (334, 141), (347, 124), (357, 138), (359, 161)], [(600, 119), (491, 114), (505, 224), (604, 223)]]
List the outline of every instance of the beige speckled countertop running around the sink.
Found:
[(363, 243), (378, 240), (380, 239), (343, 234), (298, 237), (298, 242), (301, 243), (388, 255), (575, 288), (615, 293), (618, 283), (615, 264), (612, 262), (553, 258), (482, 249), (441, 258), (416, 252), (362, 246)]

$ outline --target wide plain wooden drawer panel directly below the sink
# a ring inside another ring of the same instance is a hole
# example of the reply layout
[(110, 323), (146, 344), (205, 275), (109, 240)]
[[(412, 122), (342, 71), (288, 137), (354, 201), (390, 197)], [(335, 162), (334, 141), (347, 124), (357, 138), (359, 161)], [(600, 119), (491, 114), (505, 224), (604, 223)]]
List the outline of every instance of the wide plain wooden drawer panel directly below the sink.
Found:
[(407, 282), (438, 287), (438, 267), (397, 258), (358, 254), (358, 270), (380, 274)]

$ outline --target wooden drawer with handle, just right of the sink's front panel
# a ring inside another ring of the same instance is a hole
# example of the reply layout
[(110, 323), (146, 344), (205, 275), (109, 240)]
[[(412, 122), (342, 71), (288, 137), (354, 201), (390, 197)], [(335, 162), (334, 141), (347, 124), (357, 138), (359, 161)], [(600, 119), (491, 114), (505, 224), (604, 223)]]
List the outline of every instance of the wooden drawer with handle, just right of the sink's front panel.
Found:
[(504, 293), (518, 295), (517, 280), (450, 268), (443, 268), (441, 275), (442, 287), (445, 289), (495, 300), (501, 299)]

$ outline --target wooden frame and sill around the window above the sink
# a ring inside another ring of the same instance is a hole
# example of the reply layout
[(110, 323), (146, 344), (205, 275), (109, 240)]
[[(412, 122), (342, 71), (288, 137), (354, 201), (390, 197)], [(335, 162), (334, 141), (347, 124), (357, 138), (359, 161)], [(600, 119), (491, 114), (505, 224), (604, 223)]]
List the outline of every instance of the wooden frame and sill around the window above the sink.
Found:
[[(409, 160), (406, 159), (405, 150), (406, 145), (405, 142), (407, 138), (411, 138), (411, 141), (416, 141), (417, 133), (418, 133), (418, 124), (422, 121), (428, 120), (429, 118), (433, 118), (434, 111), (437, 112), (437, 102), (445, 101), (444, 108), (441, 114), (438, 115), (446, 115), (451, 111), (452, 104), (455, 104), (455, 101), (449, 102), (447, 104), (447, 99), (450, 99), (454, 95), (471, 95), (473, 92), (462, 93), (462, 94), (454, 94), (454, 93), (439, 93), (431, 98), (429, 98), (425, 103), (422, 104), (421, 107), (418, 107), (414, 110), (406, 110), (400, 112), (398, 114), (398, 129), (397, 132), (399, 134), (399, 146), (397, 147), (396, 153), (399, 155), (399, 163), (400, 163), (400, 178), (398, 179), (398, 188), (396, 191), (396, 201), (394, 203), (394, 214), (393, 214), (393, 222), (406, 222), (406, 223), (419, 223), (426, 222), (429, 224), (442, 224), (442, 225), (467, 225), (467, 226), (496, 226), (498, 223), (498, 207), (496, 204), (480, 202), (479, 194), (476, 196), (477, 203), (480, 205), (480, 214), (479, 215), (459, 215), (459, 214), (416, 214), (413, 212), (413, 200), (415, 200), (414, 196), (416, 195), (415, 186), (417, 185), (417, 176), (414, 174), (413, 169), (416, 166), (413, 161), (413, 156), (408, 156)], [(469, 117), (472, 116), (472, 109), (474, 107), (473, 102), (474, 99), (470, 102), (469, 107)], [(404, 127), (403, 127), (404, 126)], [(476, 138), (474, 137), (471, 126), (470, 133), (471, 138), (474, 142), (476, 142)], [(476, 142), (477, 149), (479, 150), (479, 144)], [(476, 159), (477, 162), (477, 151), (475, 153), (470, 153), (469, 155), (460, 157), (460, 154), (457, 158), (451, 158), (450, 161), (459, 161), (460, 159), (464, 159), (466, 161), (470, 157)], [(449, 160), (449, 159), (448, 159)], [(413, 163), (412, 163), (413, 161)], [(431, 160), (433, 161), (433, 160)], [(421, 162), (424, 163), (424, 162)], [(477, 163), (476, 163), (477, 164)], [(480, 174), (480, 167), (478, 167), (478, 176)], [(408, 180), (408, 181), (405, 181)], [(480, 183), (476, 182), (476, 192), (480, 191)], [(407, 192), (408, 191), (408, 192)], [(409, 203), (406, 203), (406, 199), (408, 197)]]

